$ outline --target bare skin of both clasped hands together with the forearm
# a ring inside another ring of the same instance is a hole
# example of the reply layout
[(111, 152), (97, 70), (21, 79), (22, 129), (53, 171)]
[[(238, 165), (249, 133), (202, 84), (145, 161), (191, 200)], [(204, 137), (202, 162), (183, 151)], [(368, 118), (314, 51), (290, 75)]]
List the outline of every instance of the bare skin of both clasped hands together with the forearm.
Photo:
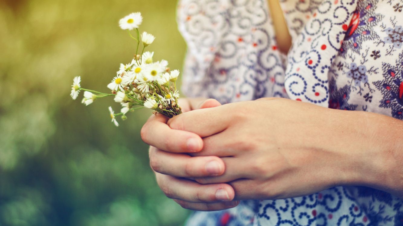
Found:
[(400, 120), (283, 98), (189, 106), (170, 120), (153, 115), (141, 130), (153, 146), (158, 185), (184, 208), (222, 210), (236, 206), (233, 200), (297, 197), (337, 185), (403, 197)]

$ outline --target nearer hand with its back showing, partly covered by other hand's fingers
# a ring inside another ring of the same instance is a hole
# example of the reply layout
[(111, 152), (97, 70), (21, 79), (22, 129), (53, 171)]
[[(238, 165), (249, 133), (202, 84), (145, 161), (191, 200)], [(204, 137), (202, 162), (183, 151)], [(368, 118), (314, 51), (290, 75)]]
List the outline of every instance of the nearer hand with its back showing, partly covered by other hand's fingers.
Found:
[[(198, 158), (218, 156), (225, 165), (218, 176), (201, 175), (204, 171), (196, 167), (196, 171), (182, 168), (181, 177), (211, 186), (228, 182), (235, 200), (279, 199), (363, 182), (362, 171), (372, 169), (359, 151), (365, 144), (351, 136), (357, 123), (351, 114), (360, 113), (264, 98), (186, 112), (171, 118), (168, 125), (203, 137), (202, 151), (184, 157), (184, 162), (199, 166), (205, 162)], [(168, 154), (160, 158), (159, 167), (168, 167), (164, 161), (174, 164)], [(190, 190), (193, 187), (177, 187), (172, 193), (191, 194)], [(205, 190), (204, 195), (214, 197), (214, 192)]]

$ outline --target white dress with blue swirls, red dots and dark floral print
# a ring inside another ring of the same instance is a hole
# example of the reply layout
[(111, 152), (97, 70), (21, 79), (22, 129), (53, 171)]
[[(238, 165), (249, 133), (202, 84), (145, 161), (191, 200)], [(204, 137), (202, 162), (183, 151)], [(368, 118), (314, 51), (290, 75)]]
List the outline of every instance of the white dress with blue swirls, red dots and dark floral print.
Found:
[[(403, 0), (280, 0), (293, 45), (278, 51), (266, 0), (181, 0), (182, 90), (221, 103), (283, 97), (403, 119)], [(343, 123), (343, 122), (341, 122)], [(403, 200), (334, 187), (194, 212), (187, 225), (403, 226)]]

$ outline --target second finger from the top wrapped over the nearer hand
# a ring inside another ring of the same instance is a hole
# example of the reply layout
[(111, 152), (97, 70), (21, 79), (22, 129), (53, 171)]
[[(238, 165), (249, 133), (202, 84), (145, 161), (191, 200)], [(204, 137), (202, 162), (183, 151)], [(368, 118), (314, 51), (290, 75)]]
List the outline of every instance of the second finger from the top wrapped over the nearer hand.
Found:
[(150, 148), (150, 165), (154, 171), (175, 177), (205, 177), (222, 175), (224, 162), (216, 156), (190, 157)]

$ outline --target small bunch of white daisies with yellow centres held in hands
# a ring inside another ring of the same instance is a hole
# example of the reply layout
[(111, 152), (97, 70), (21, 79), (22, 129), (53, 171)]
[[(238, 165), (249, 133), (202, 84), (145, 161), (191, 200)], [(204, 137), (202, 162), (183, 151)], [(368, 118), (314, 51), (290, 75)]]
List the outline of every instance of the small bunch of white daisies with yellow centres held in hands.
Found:
[[(137, 43), (136, 53), (129, 64), (120, 64), (116, 76), (108, 84), (112, 90), (110, 94), (81, 88), (81, 77), (73, 79), (71, 97), (77, 99), (81, 90), (84, 91), (82, 103), (89, 105), (98, 98), (114, 96), (114, 101), (122, 105), (120, 113), (115, 114), (112, 107), (109, 107), (112, 122), (118, 126), (116, 116), (125, 120), (126, 113), (139, 108), (151, 108), (155, 113), (160, 113), (169, 118), (181, 114), (181, 107), (178, 105), (179, 92), (176, 88), (176, 80), (179, 76), (178, 70), (170, 71), (168, 61), (161, 60), (154, 62), (154, 52), (144, 52), (144, 49), (153, 43), (155, 37), (147, 32), (141, 34), (143, 49), (139, 54), (140, 33), (139, 25), (143, 17), (139, 12), (132, 13), (120, 19), (119, 26), (127, 30), (132, 39)], [(136, 37), (131, 31), (135, 29)]]

